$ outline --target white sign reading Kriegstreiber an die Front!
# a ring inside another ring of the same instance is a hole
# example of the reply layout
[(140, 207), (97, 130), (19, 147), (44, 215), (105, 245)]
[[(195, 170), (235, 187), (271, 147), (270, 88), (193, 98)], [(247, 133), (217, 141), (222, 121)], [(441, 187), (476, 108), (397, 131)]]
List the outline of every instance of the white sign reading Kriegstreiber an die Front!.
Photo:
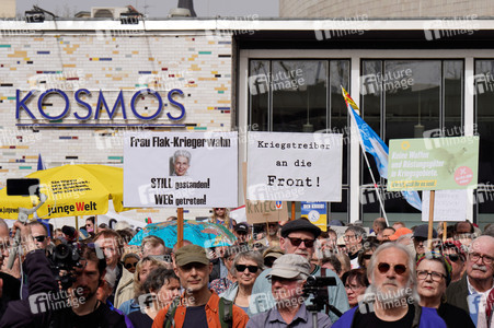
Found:
[(343, 134), (250, 132), (248, 199), (341, 201)]

